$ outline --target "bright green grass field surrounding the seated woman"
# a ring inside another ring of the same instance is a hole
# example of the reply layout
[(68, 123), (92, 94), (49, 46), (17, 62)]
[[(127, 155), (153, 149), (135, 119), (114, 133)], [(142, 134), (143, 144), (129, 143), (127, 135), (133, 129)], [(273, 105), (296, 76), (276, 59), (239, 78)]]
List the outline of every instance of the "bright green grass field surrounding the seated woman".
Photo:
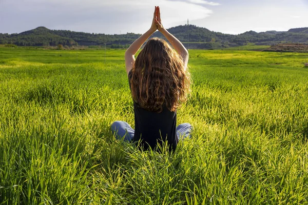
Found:
[(190, 50), (175, 153), (134, 126), (125, 50), (0, 48), (0, 204), (306, 204), (308, 54)]

